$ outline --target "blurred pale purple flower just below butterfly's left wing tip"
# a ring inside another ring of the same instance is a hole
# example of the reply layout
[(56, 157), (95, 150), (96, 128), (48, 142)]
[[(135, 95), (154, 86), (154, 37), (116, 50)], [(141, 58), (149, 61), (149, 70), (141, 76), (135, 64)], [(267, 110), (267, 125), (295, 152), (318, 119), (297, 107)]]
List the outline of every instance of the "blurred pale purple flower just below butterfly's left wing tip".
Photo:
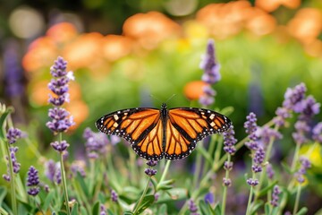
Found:
[(94, 133), (86, 128), (83, 133), (86, 140), (85, 147), (89, 159), (97, 159), (98, 155), (105, 155), (109, 143), (105, 133)]

